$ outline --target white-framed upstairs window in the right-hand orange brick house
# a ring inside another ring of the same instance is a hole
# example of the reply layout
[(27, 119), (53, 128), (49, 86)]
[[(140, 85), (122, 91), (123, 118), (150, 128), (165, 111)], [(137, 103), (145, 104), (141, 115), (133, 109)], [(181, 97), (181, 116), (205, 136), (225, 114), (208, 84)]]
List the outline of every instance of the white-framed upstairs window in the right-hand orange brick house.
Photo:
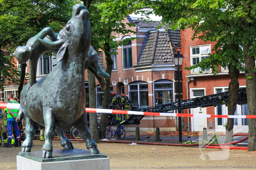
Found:
[[(197, 47), (191, 47), (190, 48), (190, 54), (191, 54), (191, 65), (196, 65), (199, 62), (201, 62), (203, 59), (206, 59), (209, 56), (209, 53), (211, 53), (211, 46), (210, 45), (204, 45), (204, 46), (197, 46)], [(203, 72), (210, 72), (211, 69), (201, 69), (200, 67), (194, 68), (193, 73), (199, 73), (199, 71)]]

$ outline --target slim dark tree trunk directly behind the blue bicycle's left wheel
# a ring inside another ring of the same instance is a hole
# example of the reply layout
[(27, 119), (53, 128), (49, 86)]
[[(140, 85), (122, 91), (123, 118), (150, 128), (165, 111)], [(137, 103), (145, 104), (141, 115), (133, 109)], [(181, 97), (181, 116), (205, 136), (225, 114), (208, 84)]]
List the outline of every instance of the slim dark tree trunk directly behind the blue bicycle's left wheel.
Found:
[[(110, 34), (107, 38), (110, 38)], [(113, 61), (112, 61), (111, 55), (109, 53), (110, 52), (109, 42), (105, 42), (104, 49), (105, 49), (105, 56), (106, 56), (106, 63), (107, 63), (106, 72), (111, 77)], [(110, 83), (111, 82), (110, 82), (110, 79), (105, 79), (105, 81), (106, 81), (106, 88), (104, 90), (104, 96), (103, 96), (103, 108), (108, 108), (109, 99), (111, 98), (111, 96), (110, 96)], [(100, 130), (100, 133), (99, 133), (100, 138), (102, 138), (102, 131), (104, 129), (106, 129), (107, 119), (108, 119), (108, 114), (101, 114), (101, 130)]]

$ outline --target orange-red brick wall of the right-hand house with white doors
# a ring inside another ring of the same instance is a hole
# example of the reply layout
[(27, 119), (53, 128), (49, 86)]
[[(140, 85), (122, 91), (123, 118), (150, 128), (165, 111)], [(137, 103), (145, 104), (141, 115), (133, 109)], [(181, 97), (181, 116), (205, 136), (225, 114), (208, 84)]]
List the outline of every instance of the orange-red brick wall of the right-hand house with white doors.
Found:
[[(204, 45), (204, 44), (211, 44), (211, 48), (214, 47), (216, 42), (207, 41), (204, 42), (199, 39), (191, 40), (193, 35), (193, 31), (191, 29), (185, 29), (184, 31), (181, 31), (181, 53), (185, 57), (182, 63), (182, 85), (183, 85), (183, 98), (187, 99), (187, 81), (189, 80), (186, 78), (186, 75), (191, 75), (191, 71), (184, 70), (185, 67), (191, 66), (190, 62), (190, 47), (191, 46), (197, 46), (197, 45)], [(213, 54), (213, 52), (212, 52)], [(219, 67), (219, 70), (221, 72), (221, 67)], [(230, 82), (229, 75), (225, 76), (207, 76), (207, 77), (194, 77), (195, 81), (189, 83), (189, 89), (190, 88), (206, 88), (206, 94), (205, 95), (211, 95), (214, 94), (214, 87), (228, 87)], [(245, 86), (245, 75), (240, 74), (238, 79), (240, 86)], [(190, 93), (190, 90), (189, 90)], [(189, 98), (190, 98), (189, 94)], [(191, 109), (189, 110), (191, 113)], [(187, 109), (184, 110), (184, 113), (187, 113)], [(207, 114), (214, 115), (214, 107), (207, 107), (206, 108)], [(188, 122), (188, 118), (184, 118), (184, 122)], [(186, 129), (187, 123), (185, 124)], [(215, 129), (215, 119), (214, 118), (207, 118), (207, 128), (210, 129), (210, 127), (213, 127)]]

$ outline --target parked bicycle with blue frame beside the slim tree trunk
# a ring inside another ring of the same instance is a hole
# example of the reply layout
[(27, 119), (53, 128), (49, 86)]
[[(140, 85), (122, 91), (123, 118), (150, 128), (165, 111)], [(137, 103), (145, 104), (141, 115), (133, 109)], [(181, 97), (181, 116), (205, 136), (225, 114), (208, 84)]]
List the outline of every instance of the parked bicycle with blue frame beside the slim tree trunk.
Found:
[(111, 127), (111, 124), (103, 130), (102, 132), (102, 138), (103, 139), (111, 139), (113, 136), (113, 132), (114, 132), (114, 137), (117, 137), (117, 139), (119, 140), (123, 140), (125, 137), (125, 129), (124, 126), (120, 126), (120, 124), (117, 124), (117, 128), (116, 131), (113, 130), (113, 128)]

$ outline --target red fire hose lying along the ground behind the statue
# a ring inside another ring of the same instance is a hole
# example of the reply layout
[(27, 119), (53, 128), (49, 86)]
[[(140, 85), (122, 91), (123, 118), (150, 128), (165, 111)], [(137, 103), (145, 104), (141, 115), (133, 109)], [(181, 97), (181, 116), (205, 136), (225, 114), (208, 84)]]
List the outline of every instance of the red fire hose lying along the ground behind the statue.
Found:
[[(34, 139), (40, 139), (40, 138), (34, 138)], [(237, 143), (241, 143), (248, 139), (248, 137), (232, 143), (222, 143), (222, 144), (212, 144), (212, 143), (192, 143), (192, 144), (181, 144), (181, 143), (156, 143), (156, 142), (136, 142), (137, 144), (142, 145), (165, 145), (165, 146), (206, 146), (207, 148), (216, 148), (216, 149), (245, 149), (247, 150), (248, 147), (237, 147), (237, 146), (225, 146), (225, 145), (235, 145)], [(53, 140), (59, 141), (59, 138), (54, 138)], [(83, 139), (69, 139), (70, 141), (84, 141)], [(108, 142), (108, 143), (133, 143), (129, 141), (102, 141), (101, 142)]]

